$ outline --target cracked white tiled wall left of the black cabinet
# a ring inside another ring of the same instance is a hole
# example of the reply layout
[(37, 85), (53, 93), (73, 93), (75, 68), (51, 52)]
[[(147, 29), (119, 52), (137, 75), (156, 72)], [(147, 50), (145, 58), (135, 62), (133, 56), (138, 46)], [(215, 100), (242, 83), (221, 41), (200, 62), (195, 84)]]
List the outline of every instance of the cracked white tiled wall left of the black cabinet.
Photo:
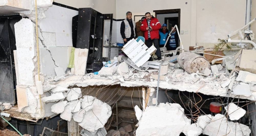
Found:
[(52, 5), (44, 13), (39, 26), (42, 31), (40, 47), (41, 71), (47, 76), (56, 76), (55, 67), (66, 70), (69, 63), (72, 43), (72, 17), (78, 11)]

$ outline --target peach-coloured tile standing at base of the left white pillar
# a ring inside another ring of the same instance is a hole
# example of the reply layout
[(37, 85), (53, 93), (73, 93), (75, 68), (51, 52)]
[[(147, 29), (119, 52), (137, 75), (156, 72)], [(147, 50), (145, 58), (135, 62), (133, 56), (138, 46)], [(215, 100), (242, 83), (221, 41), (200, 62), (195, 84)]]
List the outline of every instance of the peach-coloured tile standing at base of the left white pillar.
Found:
[(21, 88), (19, 86), (16, 86), (16, 92), (17, 92), (18, 111), (21, 112), (22, 108), (29, 105), (27, 100), (26, 88)]

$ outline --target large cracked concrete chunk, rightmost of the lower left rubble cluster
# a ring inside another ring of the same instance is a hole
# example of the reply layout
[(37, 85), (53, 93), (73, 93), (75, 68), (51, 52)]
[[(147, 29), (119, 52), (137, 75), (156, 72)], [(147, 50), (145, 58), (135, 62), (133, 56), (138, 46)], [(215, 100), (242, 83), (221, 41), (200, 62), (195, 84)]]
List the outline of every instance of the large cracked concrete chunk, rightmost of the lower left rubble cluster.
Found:
[(110, 105), (103, 103), (101, 100), (94, 99), (93, 108), (84, 114), (84, 119), (79, 125), (93, 133), (95, 130), (104, 127), (111, 114), (112, 111)]

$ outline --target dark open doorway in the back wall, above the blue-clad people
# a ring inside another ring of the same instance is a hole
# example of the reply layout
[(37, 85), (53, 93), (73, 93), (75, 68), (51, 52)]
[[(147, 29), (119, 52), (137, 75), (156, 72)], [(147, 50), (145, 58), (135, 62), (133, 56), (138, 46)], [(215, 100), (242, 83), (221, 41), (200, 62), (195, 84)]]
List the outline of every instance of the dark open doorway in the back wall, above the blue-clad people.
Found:
[(166, 24), (169, 31), (175, 25), (180, 30), (180, 9), (166, 9), (166, 10), (154, 10), (155, 17), (159, 20), (160, 24)]

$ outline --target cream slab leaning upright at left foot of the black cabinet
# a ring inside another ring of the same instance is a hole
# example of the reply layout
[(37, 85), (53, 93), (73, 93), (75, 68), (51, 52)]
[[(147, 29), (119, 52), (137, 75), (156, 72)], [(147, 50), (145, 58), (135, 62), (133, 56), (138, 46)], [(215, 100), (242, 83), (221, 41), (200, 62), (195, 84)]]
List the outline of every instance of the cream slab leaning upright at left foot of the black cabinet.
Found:
[(74, 70), (76, 75), (84, 75), (86, 71), (88, 49), (75, 49)]

